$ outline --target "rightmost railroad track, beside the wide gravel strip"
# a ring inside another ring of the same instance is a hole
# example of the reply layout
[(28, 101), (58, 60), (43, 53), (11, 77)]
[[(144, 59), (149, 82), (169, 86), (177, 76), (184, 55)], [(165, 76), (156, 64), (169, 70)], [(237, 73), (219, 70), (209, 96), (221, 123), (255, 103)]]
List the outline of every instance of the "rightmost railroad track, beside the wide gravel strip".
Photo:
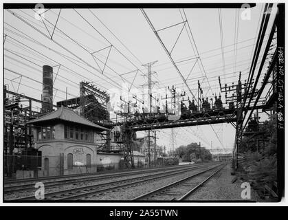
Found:
[[(219, 168), (220, 166), (220, 168)], [(219, 173), (219, 171), (226, 166), (223, 164), (201, 170), (200, 172), (193, 174), (189, 177), (179, 179), (172, 184), (167, 184), (147, 192), (144, 195), (140, 195), (131, 199), (132, 201), (182, 201), (190, 197), (199, 187), (208, 181), (211, 177)]]

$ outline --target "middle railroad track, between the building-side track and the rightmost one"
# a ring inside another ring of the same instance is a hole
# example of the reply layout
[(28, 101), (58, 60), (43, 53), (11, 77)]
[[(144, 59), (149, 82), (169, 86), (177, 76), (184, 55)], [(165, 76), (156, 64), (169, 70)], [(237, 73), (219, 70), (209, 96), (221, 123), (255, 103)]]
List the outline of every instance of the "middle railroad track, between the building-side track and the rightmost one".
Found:
[[(40, 201), (54, 201), (54, 200), (76, 200), (76, 199), (87, 199), (89, 197), (97, 197), (97, 195), (103, 195), (105, 192), (114, 192), (116, 190), (122, 190), (124, 188), (129, 188), (132, 186), (140, 186), (143, 184), (148, 184), (151, 181), (156, 181), (157, 179), (167, 178), (175, 175), (181, 175), (182, 173), (189, 172), (190, 170), (195, 170), (199, 168), (206, 168), (211, 166), (211, 164), (201, 164), (199, 166), (190, 166), (188, 168), (182, 168), (181, 170), (168, 170), (162, 173), (156, 173), (151, 175), (146, 175), (142, 177), (134, 177), (130, 179), (110, 181), (103, 184), (93, 184), (90, 186), (81, 186), (77, 188), (70, 188), (67, 190), (58, 190), (56, 192), (45, 193), (45, 199)], [(33, 192), (34, 193), (34, 192)], [(6, 200), (6, 199), (5, 199)], [(16, 199), (7, 199), (6, 201), (35, 201), (35, 197), (21, 197)]]

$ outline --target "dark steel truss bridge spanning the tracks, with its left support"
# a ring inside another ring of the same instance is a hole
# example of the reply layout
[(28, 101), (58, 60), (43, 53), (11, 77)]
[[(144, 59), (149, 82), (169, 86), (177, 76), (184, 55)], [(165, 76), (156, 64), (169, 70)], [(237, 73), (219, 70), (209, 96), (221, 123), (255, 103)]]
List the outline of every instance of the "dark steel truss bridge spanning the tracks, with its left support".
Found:
[[(254, 109), (262, 109), (263, 111), (269, 109), (270, 107), (266, 101), (261, 102), (262, 104), (257, 105)], [(127, 116), (126, 121), (118, 122), (114, 125), (120, 125), (123, 128), (124, 140), (121, 144), (124, 144), (125, 152), (124, 159), (131, 162), (133, 166), (133, 147), (132, 147), (132, 137), (135, 131), (148, 131), (155, 129), (169, 129), (184, 126), (197, 126), (204, 124), (219, 124), (219, 123), (230, 123), (236, 129), (237, 115), (240, 111), (252, 110), (252, 107), (247, 107), (245, 109), (219, 109), (211, 111), (201, 111), (197, 113), (184, 113), (181, 114), (178, 120), (168, 120), (168, 115), (164, 113), (143, 113), (131, 118)]]

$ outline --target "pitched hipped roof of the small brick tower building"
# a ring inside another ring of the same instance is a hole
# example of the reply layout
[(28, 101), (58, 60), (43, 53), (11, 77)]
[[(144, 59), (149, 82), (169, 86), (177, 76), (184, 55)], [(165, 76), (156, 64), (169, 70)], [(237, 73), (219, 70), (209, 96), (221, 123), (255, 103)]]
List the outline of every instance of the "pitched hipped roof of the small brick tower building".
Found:
[(27, 122), (27, 124), (38, 124), (39, 122), (47, 122), (50, 120), (63, 120), (66, 122), (74, 122), (76, 124), (82, 124), (85, 126), (93, 127), (94, 129), (98, 130), (109, 130), (105, 128), (104, 126), (100, 126), (98, 124), (95, 124), (93, 122), (90, 122), (89, 120), (82, 118), (80, 115), (78, 115), (75, 111), (72, 109), (68, 109), (66, 107), (60, 107), (56, 111), (52, 111), (51, 113), (47, 113), (47, 115), (43, 115), (40, 118), (36, 118), (33, 120), (30, 120), (30, 122)]

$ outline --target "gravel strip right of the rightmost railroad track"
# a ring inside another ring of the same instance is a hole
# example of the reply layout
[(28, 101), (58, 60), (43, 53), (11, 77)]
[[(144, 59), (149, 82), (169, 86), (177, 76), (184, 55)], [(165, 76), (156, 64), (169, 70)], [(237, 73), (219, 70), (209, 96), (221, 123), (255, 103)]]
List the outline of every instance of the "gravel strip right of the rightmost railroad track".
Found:
[(242, 199), (241, 188), (243, 181), (236, 180), (232, 184), (235, 176), (231, 175), (231, 164), (225, 166), (219, 173), (212, 177), (199, 190), (194, 192), (186, 200), (213, 200), (213, 201), (261, 201), (256, 192), (251, 188), (251, 199)]

